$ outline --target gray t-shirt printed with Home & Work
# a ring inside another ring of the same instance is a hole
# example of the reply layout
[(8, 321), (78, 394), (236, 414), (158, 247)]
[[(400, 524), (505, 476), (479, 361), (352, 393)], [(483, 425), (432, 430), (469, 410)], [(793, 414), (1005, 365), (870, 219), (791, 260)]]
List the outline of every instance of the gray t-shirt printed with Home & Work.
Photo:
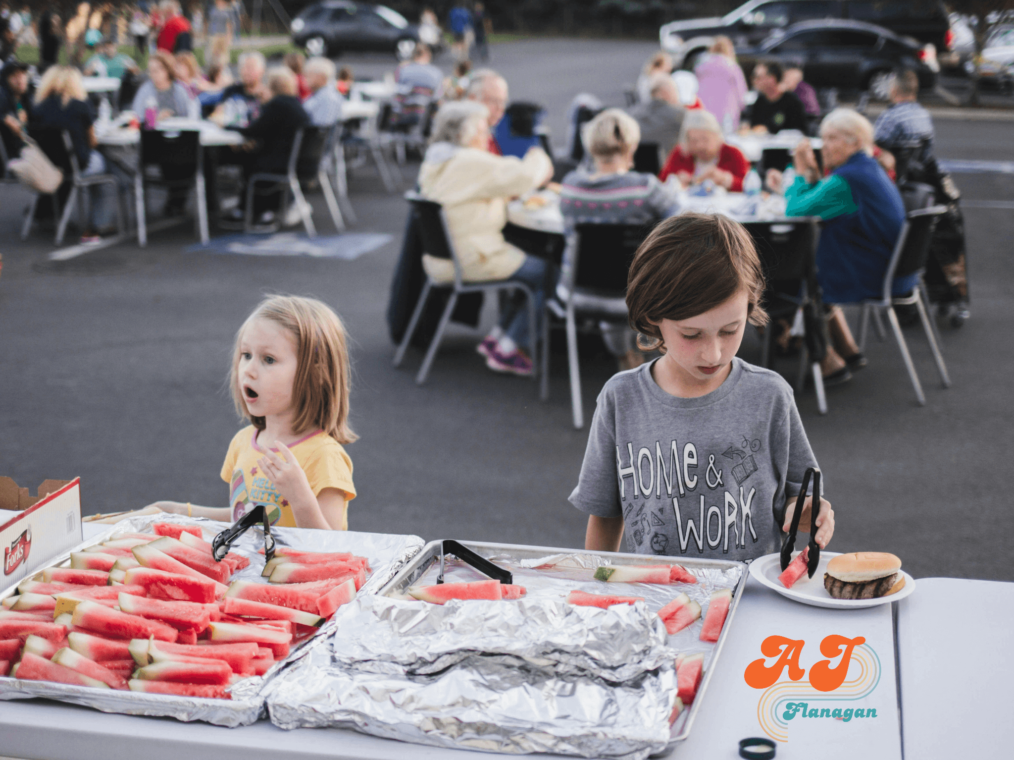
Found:
[(779, 551), (786, 499), (816, 467), (789, 384), (734, 358), (716, 391), (680, 399), (655, 383), (654, 363), (613, 375), (598, 395), (571, 503), (623, 515), (638, 554)]

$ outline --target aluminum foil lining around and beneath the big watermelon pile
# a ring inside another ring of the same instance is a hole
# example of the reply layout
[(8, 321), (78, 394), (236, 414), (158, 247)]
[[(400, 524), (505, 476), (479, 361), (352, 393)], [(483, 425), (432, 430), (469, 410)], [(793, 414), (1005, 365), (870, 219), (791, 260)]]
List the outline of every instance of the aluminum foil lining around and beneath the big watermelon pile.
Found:
[[(108, 531), (88, 539), (70, 551), (81, 551), (85, 547), (99, 544), (126, 533), (150, 533), (153, 523), (175, 523), (196, 525), (204, 533), (206, 541), (229, 527), (227, 523), (217, 523), (202, 517), (186, 517), (178, 514), (146, 514), (129, 517), (112, 526)], [(305, 551), (343, 552), (351, 551), (370, 560), (372, 573), (360, 589), (360, 597), (375, 595), (423, 547), (418, 536), (395, 536), (378, 533), (353, 533), (348, 531), (313, 531), (299, 528), (273, 528), (276, 544)], [(233, 574), (234, 580), (267, 582), (261, 576), (264, 569), (264, 537), (259, 530), (250, 529), (232, 545), (232, 551), (249, 558), (250, 564)], [(66, 563), (70, 552), (55, 557), (50, 566)], [(16, 584), (0, 593), (0, 599), (15, 594)], [(337, 617), (337, 616), (336, 616)], [(218, 726), (235, 728), (248, 726), (264, 716), (264, 692), (277, 675), (290, 664), (302, 658), (311, 646), (329, 637), (337, 624), (335, 618), (320, 627), (308, 641), (297, 647), (285, 660), (276, 663), (264, 676), (245, 678), (231, 687), (229, 700), (202, 699), (198, 697), (177, 697), (167, 694), (145, 694), (113, 689), (93, 689), (70, 684), (56, 684), (45, 681), (22, 681), (16, 678), (0, 677), (0, 699), (31, 699), (46, 697), (62, 702), (72, 702), (93, 707), (103, 712), (122, 712), (130, 715), (161, 715), (178, 720), (204, 720)]]

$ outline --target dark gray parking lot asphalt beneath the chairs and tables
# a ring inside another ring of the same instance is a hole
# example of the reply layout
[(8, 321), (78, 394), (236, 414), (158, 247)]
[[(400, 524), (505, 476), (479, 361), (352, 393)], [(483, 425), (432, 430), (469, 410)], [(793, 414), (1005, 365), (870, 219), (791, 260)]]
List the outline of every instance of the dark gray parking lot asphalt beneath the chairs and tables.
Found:
[[(573, 95), (622, 105), (653, 49), (528, 41), (494, 46), (491, 64), (508, 77), (512, 98), (548, 107), (560, 144)], [(342, 63), (363, 75), (391, 61)], [(943, 158), (1014, 160), (1008, 123), (940, 120), (937, 130)], [(955, 181), (968, 201), (1014, 201), (1012, 175)], [(54, 263), (42, 232), (17, 238), (27, 194), (0, 187), (0, 475), (31, 488), (79, 475), (88, 513), (161, 498), (224, 505), (219, 470), (240, 425), (225, 386), (234, 333), (265, 293), (307, 294), (331, 303), (352, 337), (352, 423), (361, 435), (348, 446), (360, 494), (350, 505), (352, 529), (581, 546), (585, 519), (567, 496), (587, 429), (570, 424), (564, 356), (554, 355), (548, 403), (533, 383), (487, 370), (473, 350), (479, 333), (464, 328), (450, 331), (425, 386), (414, 383), (418, 352), (392, 368), (384, 308), (405, 202), (383, 192), (369, 168), (351, 188), (359, 216), (352, 231), (393, 235), (353, 261), (187, 253), (194, 237), (185, 224), (153, 235), (144, 250), (121, 245)], [(322, 203), (313, 201), (328, 232)], [(965, 217), (972, 316), (958, 330), (942, 328), (953, 387), (940, 388), (925, 339), (910, 329), (925, 408), (915, 404), (896, 348), (875, 340), (869, 367), (828, 393), (826, 416), (809, 391), (797, 403), (838, 512), (829, 549), (891, 551), (917, 577), (1014, 580), (1012, 466), (1003, 442), (1014, 422), (1014, 221), (1009, 208), (969, 205)], [(486, 324), (490, 318), (487, 309)], [(741, 353), (757, 360), (753, 336)], [(795, 367), (778, 368), (791, 375)], [(587, 353), (582, 370), (590, 418), (614, 367)]]

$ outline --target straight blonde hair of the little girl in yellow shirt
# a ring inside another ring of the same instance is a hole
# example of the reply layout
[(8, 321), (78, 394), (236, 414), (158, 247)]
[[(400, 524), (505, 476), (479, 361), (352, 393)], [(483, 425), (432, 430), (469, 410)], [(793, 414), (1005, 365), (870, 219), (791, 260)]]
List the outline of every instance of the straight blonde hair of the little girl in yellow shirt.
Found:
[(331, 306), (315, 298), (271, 295), (246, 318), (232, 351), (229, 391), (239, 416), (264, 430), (264, 417), (255, 417), (239, 392), (239, 344), (254, 320), (270, 320), (296, 339), (296, 376), (292, 399), (296, 415), (292, 432), (301, 434), (319, 428), (339, 443), (358, 438), (349, 427), (350, 375), (348, 336), (342, 320)]

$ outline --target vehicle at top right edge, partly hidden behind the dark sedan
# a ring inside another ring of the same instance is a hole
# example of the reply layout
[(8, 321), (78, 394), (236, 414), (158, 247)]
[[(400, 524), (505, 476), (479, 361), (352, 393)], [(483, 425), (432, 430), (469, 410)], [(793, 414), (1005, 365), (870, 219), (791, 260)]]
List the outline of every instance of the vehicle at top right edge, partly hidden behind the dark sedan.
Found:
[(759, 45), (775, 29), (799, 21), (844, 18), (884, 26), (895, 34), (949, 50), (954, 41), (942, 0), (750, 0), (721, 18), (672, 21), (661, 27), (662, 49), (693, 70), (718, 34), (736, 48)]

